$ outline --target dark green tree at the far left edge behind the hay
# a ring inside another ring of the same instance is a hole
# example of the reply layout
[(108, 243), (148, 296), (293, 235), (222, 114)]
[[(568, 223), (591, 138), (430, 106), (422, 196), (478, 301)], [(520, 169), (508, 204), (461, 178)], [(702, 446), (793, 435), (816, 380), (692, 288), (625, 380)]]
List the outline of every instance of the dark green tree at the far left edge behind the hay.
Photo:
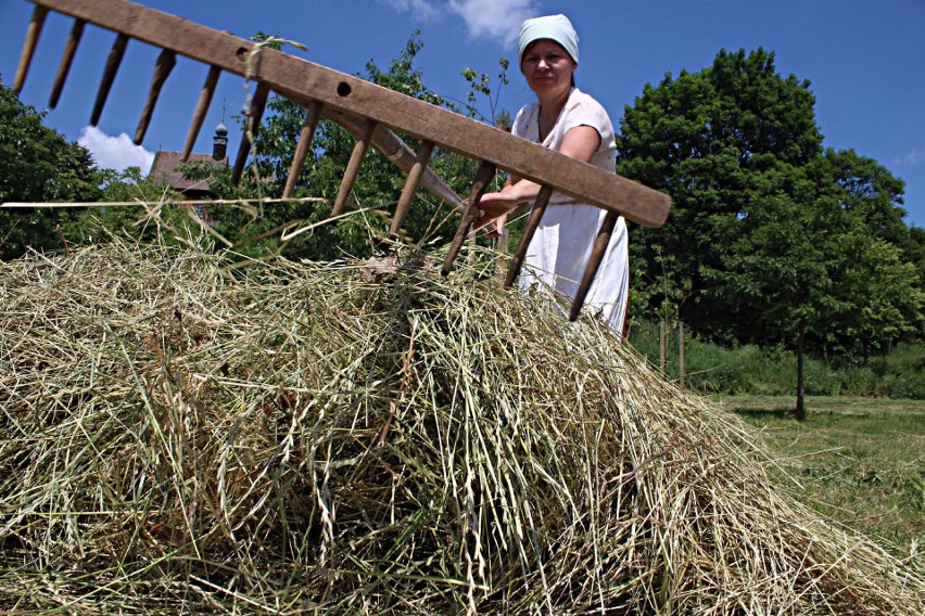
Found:
[[(102, 176), (90, 153), (43, 119), (0, 81), (0, 202), (99, 198)], [(61, 229), (77, 216), (69, 209), (0, 209), (0, 258), (15, 258), (27, 247), (62, 248)]]

